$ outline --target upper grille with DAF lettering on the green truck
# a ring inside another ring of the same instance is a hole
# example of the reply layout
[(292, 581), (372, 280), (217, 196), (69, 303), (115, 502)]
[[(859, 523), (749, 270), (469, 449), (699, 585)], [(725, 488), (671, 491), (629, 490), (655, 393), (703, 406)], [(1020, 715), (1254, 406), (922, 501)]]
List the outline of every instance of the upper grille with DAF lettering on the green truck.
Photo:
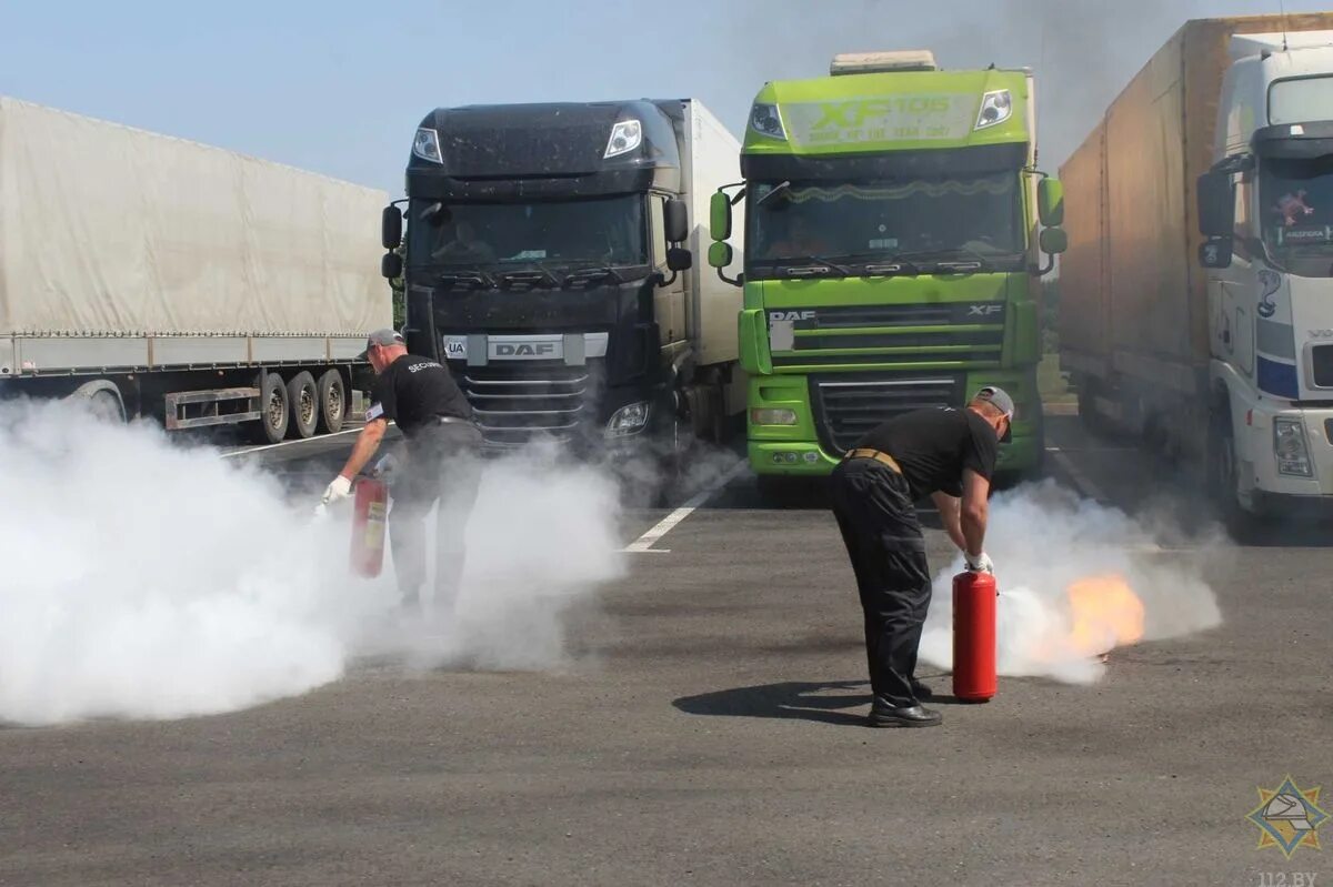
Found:
[[(996, 365), (1004, 350), (1005, 310), (1005, 302), (820, 308), (793, 322), (793, 346), (776, 350), (773, 366)], [(956, 329), (964, 325), (973, 329)], [(922, 326), (952, 329), (912, 329)], [(850, 349), (861, 353), (829, 353)]]

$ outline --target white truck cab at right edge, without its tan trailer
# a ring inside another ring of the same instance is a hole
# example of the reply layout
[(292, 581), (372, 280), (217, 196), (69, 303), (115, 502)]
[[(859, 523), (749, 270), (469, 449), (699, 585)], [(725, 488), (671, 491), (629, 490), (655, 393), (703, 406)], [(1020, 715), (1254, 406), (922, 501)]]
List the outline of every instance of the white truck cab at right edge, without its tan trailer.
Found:
[(1210, 479), (1241, 513), (1333, 511), (1333, 31), (1237, 35), (1212, 169)]

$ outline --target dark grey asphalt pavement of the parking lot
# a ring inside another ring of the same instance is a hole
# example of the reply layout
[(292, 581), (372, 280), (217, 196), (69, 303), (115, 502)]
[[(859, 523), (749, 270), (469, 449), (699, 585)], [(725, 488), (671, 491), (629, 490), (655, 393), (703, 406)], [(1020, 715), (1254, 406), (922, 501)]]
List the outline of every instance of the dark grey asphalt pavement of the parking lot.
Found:
[[(1206, 521), (1125, 442), (1052, 417), (1049, 444), (1089, 498)], [(0, 884), (1333, 882), (1326, 850), (1286, 859), (1246, 820), (1288, 775), (1333, 786), (1326, 527), (1162, 553), (1201, 561), (1222, 625), (1117, 650), (1093, 686), (1002, 678), (940, 729), (870, 730), (817, 491), (769, 507), (741, 471), (690, 503), (625, 515), (629, 547), (670, 522), (555, 673), (377, 659), (229, 715), (0, 729)]]

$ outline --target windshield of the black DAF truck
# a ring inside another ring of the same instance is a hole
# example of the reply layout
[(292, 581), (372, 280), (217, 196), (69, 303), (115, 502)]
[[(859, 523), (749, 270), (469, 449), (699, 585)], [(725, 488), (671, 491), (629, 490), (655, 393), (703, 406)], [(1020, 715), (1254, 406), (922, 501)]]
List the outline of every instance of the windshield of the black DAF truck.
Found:
[(648, 265), (641, 194), (505, 204), (413, 200), (408, 261), (432, 268)]

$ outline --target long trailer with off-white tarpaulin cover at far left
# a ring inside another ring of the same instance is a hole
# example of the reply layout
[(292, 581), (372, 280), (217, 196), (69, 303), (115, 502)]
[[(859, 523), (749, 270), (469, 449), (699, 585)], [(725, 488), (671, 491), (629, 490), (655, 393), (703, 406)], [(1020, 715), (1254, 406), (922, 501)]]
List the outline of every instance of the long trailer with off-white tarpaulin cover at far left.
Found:
[(392, 322), (385, 200), (0, 97), (0, 400), (259, 442), (339, 430), (365, 334)]

